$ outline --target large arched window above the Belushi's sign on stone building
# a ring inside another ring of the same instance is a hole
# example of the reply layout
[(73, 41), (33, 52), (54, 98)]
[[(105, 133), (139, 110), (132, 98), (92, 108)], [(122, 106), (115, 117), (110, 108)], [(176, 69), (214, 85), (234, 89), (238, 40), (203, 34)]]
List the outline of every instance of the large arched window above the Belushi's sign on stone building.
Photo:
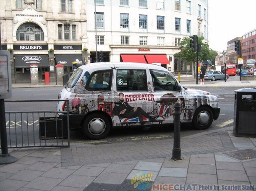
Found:
[(16, 32), (17, 41), (44, 41), (42, 28), (35, 23), (24, 23)]

